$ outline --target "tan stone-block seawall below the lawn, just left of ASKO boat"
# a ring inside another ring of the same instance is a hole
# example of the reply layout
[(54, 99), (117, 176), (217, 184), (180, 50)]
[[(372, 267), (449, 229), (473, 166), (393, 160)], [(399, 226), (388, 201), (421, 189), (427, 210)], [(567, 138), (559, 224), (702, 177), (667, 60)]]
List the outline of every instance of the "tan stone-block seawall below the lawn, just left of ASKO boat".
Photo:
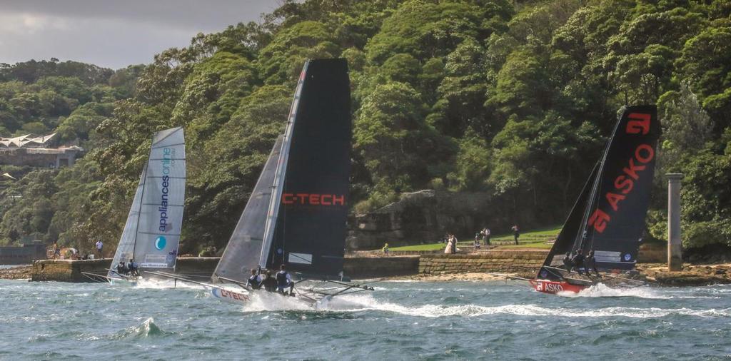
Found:
[(425, 254), (419, 261), (419, 273), (501, 272), (532, 274), (537, 272), (548, 251), (489, 251), (479, 254)]

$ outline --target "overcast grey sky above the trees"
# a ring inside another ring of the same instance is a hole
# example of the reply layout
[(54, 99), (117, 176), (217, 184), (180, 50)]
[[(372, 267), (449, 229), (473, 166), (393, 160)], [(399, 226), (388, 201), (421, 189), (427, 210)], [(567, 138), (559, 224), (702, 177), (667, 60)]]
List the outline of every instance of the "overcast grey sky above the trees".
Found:
[(0, 0), (0, 63), (58, 58), (119, 69), (199, 32), (260, 21), (278, 0)]

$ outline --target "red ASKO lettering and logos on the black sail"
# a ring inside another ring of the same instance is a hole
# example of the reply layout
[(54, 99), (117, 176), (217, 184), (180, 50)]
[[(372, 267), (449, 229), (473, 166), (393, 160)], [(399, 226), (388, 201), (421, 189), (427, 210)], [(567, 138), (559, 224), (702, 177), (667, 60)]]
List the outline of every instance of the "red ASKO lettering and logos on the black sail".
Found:
[[(642, 113), (630, 113), (629, 122), (625, 129), (627, 134), (648, 134), (650, 132), (650, 115)], [(640, 179), (640, 172), (647, 168), (648, 164), (655, 158), (655, 149), (649, 144), (640, 144), (635, 148), (633, 157), (627, 161), (622, 173), (614, 180), (614, 189), (605, 194), (607, 203), (612, 211), (619, 210), (619, 203), (626, 199), (635, 187), (635, 182)], [(596, 232), (602, 233), (611, 221), (610, 210), (596, 208), (588, 218), (589, 226), (593, 226)]]

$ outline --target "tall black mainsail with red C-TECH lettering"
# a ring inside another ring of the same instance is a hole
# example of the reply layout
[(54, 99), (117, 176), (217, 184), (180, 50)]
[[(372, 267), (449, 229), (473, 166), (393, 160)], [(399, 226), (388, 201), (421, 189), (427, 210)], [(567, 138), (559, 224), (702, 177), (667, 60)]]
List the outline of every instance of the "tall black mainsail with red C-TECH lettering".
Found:
[(276, 226), (262, 259), (268, 269), (285, 263), (288, 270), (336, 276), (343, 269), (352, 138), (346, 61), (308, 61), (300, 86), (282, 148), (279, 205), (270, 208)]

